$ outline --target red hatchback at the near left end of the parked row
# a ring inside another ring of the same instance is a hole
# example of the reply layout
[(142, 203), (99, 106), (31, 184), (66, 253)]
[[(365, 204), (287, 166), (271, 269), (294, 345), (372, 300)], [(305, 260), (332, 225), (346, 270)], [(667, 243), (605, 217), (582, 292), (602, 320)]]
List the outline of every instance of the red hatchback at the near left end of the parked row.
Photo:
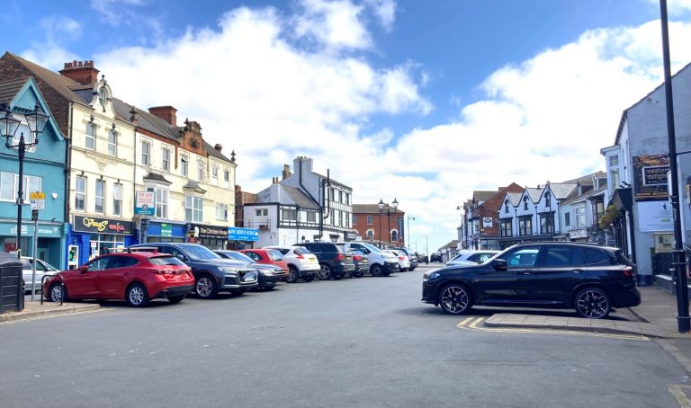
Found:
[(193, 288), (190, 267), (175, 256), (127, 252), (102, 255), (79, 269), (58, 272), (43, 285), (43, 293), (53, 302), (124, 299), (130, 306), (140, 307), (158, 297), (177, 303)]

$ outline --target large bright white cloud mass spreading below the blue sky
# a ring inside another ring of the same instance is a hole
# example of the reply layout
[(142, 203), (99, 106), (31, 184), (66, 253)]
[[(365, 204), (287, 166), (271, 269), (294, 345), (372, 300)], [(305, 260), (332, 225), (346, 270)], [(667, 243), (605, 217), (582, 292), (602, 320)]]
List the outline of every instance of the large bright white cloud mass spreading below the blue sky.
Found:
[[(498, 67), (479, 100), (458, 102), (456, 120), (396, 135), (372, 117), (433, 111), (422, 94), (428, 75), (418, 63), (373, 67), (353, 55), (373, 48), (363, 11), (371, 4), (304, 0), (298, 18), (242, 7), (214, 30), (94, 60), (116, 96), (139, 108), (172, 104), (211, 144), (234, 149), (246, 191), (309, 155), (316, 171), (354, 188), (356, 203), (397, 198), (417, 218), (412, 241), (422, 250), (428, 235), (430, 251), (455, 237), (454, 208), (473, 190), (604, 169), (599, 149), (613, 143), (622, 111), (660, 84), (659, 22), (588, 31)], [(310, 41), (296, 45), (296, 27)], [(690, 25), (670, 24), (677, 69), (691, 60), (689, 35)]]

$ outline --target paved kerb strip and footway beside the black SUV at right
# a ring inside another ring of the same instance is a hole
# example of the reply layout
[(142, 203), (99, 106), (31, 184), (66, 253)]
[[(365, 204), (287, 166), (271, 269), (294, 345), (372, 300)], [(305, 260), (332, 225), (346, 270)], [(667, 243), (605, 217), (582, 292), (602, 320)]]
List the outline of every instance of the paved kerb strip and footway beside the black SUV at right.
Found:
[(691, 333), (679, 333), (677, 297), (654, 287), (640, 287), (641, 305), (617, 309), (606, 319), (570, 316), (495, 314), (485, 319), (486, 327), (572, 330), (579, 332), (619, 333), (660, 339), (691, 339)]

